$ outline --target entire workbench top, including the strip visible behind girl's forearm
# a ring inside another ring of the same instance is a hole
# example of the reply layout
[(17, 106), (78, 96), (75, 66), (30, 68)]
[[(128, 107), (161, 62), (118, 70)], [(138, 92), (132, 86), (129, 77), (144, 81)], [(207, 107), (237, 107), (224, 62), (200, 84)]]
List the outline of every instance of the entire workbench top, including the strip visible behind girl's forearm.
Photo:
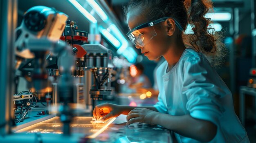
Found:
[[(137, 106), (148, 106), (155, 103), (154, 98), (148, 98), (141, 100), (139, 97), (132, 97), (121, 95), (117, 100), (112, 103), (129, 105), (135, 103)], [(109, 101), (99, 101), (99, 103), (105, 103)], [(20, 123), (16, 128), (16, 132), (22, 132), (25, 134), (41, 133), (56, 134), (55, 141), (62, 138), (63, 124), (59, 121), (59, 117), (50, 117), (49, 115), (43, 115), (40, 123), (31, 123), (38, 117), (33, 117), (34, 112), (31, 113), (29, 119), (25, 119), (25, 123)], [(35, 119), (34, 119), (35, 118)], [(71, 123), (72, 136), (75, 137), (74, 142), (91, 142), (91, 143), (172, 143), (171, 131), (162, 128), (158, 125), (148, 125), (144, 123), (133, 123), (126, 125), (126, 115), (120, 115), (115, 120), (110, 120), (108, 123), (91, 123), (92, 117), (74, 117)], [(28, 128), (25, 128), (25, 124), (30, 124)], [(107, 125), (108, 124), (108, 125)], [(21, 128), (19, 128), (19, 126)], [(57, 135), (58, 134), (58, 135)], [(58, 136), (58, 137), (57, 137)], [(44, 136), (43, 136), (44, 137)], [(42, 139), (43, 139), (42, 137)], [(67, 136), (65, 136), (67, 137)], [(77, 139), (79, 138), (79, 139)], [(63, 138), (62, 138), (63, 139)], [(81, 139), (83, 141), (81, 141)], [(44, 139), (43, 139), (44, 140)], [(69, 139), (65, 139), (66, 141)], [(73, 141), (73, 140), (72, 140)], [(68, 142), (68, 141), (67, 141)]]

